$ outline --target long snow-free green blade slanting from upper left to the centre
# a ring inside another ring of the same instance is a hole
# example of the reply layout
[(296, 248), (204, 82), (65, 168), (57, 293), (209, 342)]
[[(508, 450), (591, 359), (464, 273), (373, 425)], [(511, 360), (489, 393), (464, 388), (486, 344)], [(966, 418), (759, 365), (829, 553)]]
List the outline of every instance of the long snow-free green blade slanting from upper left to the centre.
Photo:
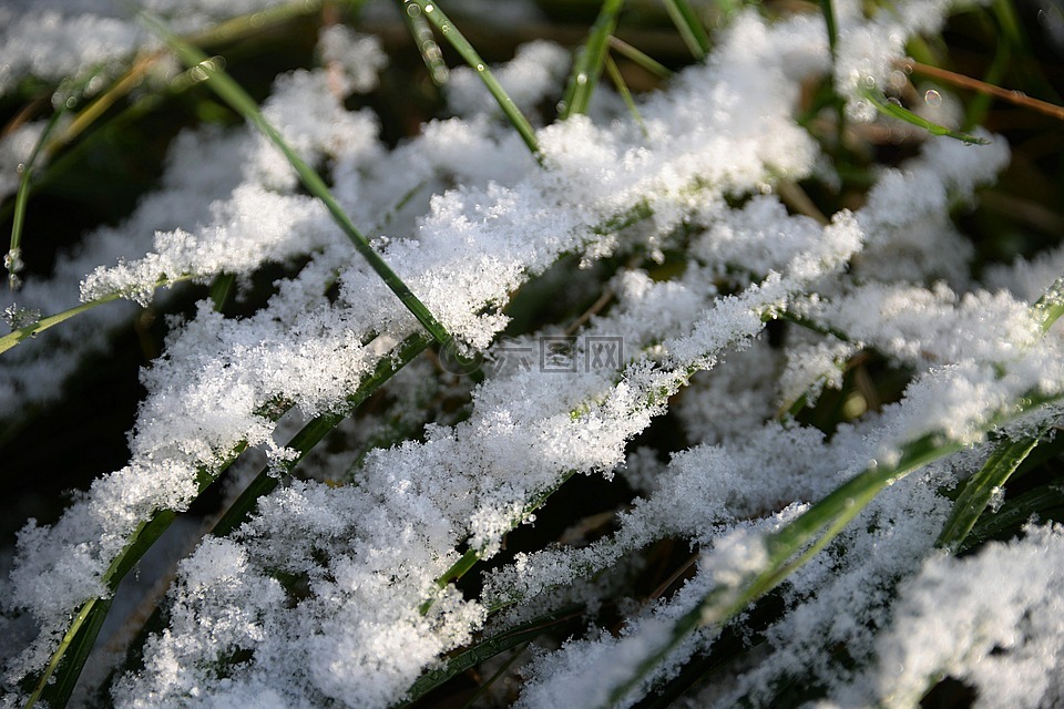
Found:
[(440, 345), (449, 345), (453, 338), (447, 329), (436, 319), (424, 304), (413, 295), (413, 291), (411, 291), (391, 267), (388, 266), (387, 261), (374, 250), (366, 237), (355, 227), (350, 217), (348, 217), (342, 207), (340, 207), (340, 204), (332, 196), (332, 193), (329, 192), (321, 176), (296, 154), (277, 129), (263, 116), (255, 101), (247, 95), (244, 89), (222, 71), (215, 62), (212, 62), (206, 54), (172, 33), (157, 18), (147, 12), (141, 12), (140, 17), (152, 31), (166, 42), (186, 65), (203, 72), (204, 83), (206, 83), (207, 86), (280, 150), (293, 168), (295, 168), (304, 186), (310, 194), (325, 204), (332, 219), (339, 225), (344, 234), (347, 235), (351, 244), (355, 245), (355, 248), (362, 258), (366, 259), (370, 268), (380, 276), (388, 288), (391, 289), (407, 309), (413, 314), (413, 317), (432, 335), (433, 339), (440, 342)]

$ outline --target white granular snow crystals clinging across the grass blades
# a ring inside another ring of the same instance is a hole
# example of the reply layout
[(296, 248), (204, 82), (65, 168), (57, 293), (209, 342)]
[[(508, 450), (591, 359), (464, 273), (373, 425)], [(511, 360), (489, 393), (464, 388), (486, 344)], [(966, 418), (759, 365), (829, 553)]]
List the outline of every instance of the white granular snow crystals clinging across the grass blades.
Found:
[[(180, 4), (152, 7), (187, 29), (273, 3)], [(837, 4), (833, 81), (857, 113), (862, 91), (896, 79), (904, 40), (938, 31), (953, 7), (910, 0), (866, 18), (856, 1)], [(33, 14), (8, 7), (0, 20), (12, 58), (0, 91), (150, 47), (105, 2)], [(24, 39), (54, 48), (72, 31), (85, 34), (51, 54)], [(472, 70), (452, 72), (451, 117), (386, 146), (378, 119), (345, 104), (377, 84), (387, 60), (379, 41), (334, 25), (318, 50), (320, 68), (277, 78), (264, 114), (328, 177), (460, 351), (492, 364), (473, 386), (429, 360), (411, 363), (386, 388), (390, 399), (340, 427), (348, 450), (315, 451), (304, 477), (284, 480), (234, 534), (183, 558), (167, 627), (147, 640), (144, 667), (115, 680), (116, 706), (390, 707), (479, 634), (628, 593), (624, 574), (643, 552), (676, 540), (695, 558), (677, 590), (642, 606), (617, 599), (615, 633), (592, 627), (538, 648), (521, 670), (521, 707), (631, 706), (714, 647), (729, 620), (720, 608), (779, 562), (774, 535), (862, 471), (889, 470), (917, 441), (958, 452), (899, 472), (855, 511), (778, 587), (781, 610), (757, 634), (765, 650), (685, 701), (771, 706), (798, 675), (822, 690), (825, 707), (869, 697), (912, 706), (945, 674), (974, 687), (980, 706), (1061, 700), (1052, 670), (1064, 657), (1064, 532), (1030, 525), (1024, 538), (964, 558), (933, 548), (951, 505), (943, 491), (986, 460), (989, 434), (1040, 430), (1058, 419), (1064, 397), (1064, 341), (1044, 335), (1030, 308), (1064, 256), (992, 267), (979, 281), (950, 217), (1007, 165), (1002, 138), (980, 133), (990, 145), (968, 147), (927, 137), (918, 156), (876, 173), (863, 203), (821, 224), (791, 214), (777, 189), (781, 179), (823, 178), (825, 156), (795, 115), (801, 82), (831, 71), (816, 16), (737, 14), (704, 63), (640, 99), (645, 133), (630, 117), (535, 117), (540, 162)], [(534, 42), (497, 75), (531, 112), (554, 100), (569, 63), (566, 50)], [(24, 160), (38, 130), (4, 137), (0, 162)], [(676, 253), (679, 268), (668, 260)], [(283, 467), (296, 455), (287, 435), (347, 413), (349, 397), (417, 329), (299, 192), (287, 161), (246, 126), (182, 134), (157, 192), (12, 298), (43, 314), (79, 297), (165, 307), (164, 288), (177, 281), (247, 280), (268, 264), (300, 266), (256, 312), (225, 317), (201, 302), (172, 319), (162, 354), (141, 374), (129, 463), (54, 524), (30, 521), (20, 533), (3, 587), (3, 623), (21, 624), (19, 647), (3, 654), (11, 697), (47, 665), (81, 604), (110, 594), (109, 568), (137, 525), (187, 510), (202, 477), (245, 446)], [(503, 337), (518, 317), (508, 310), (514, 294), (543, 285), (570, 310), (601, 292), (607, 305)], [(104, 305), (6, 353), (0, 417), (59, 397), (62, 379), (134, 311)], [(774, 342), (766, 329), (784, 314), (816, 329), (789, 325)], [(539, 366), (536, 348), (550, 338), (572, 338), (552, 360), (565, 372)], [(589, 364), (606, 340), (623, 354)], [(519, 351), (528, 361), (512, 357)], [(787, 413), (841, 387), (863, 351), (906, 372), (900, 400), (830, 432)], [(441, 403), (448, 397), (468, 401), (456, 411)], [(667, 456), (638, 442), (664, 417), (681, 441)], [(239, 465), (245, 480), (250, 466)], [(466, 549), (499, 556), (508, 534), (532, 523), (544, 500), (550, 508), (574, 475), (626, 480), (637, 496), (587, 544), (500, 556), (479, 594), (441, 587)], [(995, 593), (981, 593), (988, 587)]]

